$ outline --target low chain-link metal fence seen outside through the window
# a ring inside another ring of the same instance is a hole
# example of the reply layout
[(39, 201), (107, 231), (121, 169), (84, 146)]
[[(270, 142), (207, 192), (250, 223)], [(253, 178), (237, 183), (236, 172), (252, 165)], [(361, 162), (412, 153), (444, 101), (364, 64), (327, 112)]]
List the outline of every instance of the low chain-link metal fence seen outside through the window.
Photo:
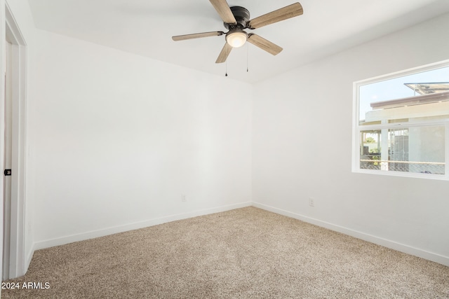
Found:
[(421, 174), (444, 174), (444, 162), (410, 162), (392, 160), (360, 160), (361, 169), (389, 170), (391, 172), (414, 172)]

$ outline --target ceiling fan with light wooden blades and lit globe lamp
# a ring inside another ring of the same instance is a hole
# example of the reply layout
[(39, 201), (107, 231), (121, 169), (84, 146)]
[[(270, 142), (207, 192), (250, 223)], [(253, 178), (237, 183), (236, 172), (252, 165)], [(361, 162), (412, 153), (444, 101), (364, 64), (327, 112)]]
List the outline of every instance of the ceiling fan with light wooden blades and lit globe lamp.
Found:
[(199, 39), (208, 36), (220, 36), (225, 34), (226, 43), (222, 48), (220, 55), (218, 55), (215, 63), (222, 63), (227, 60), (232, 48), (239, 48), (248, 41), (254, 46), (267, 51), (272, 55), (277, 55), (282, 51), (282, 48), (258, 36), (257, 34), (248, 34), (243, 29), (257, 29), (266, 25), (270, 25), (282, 20), (287, 20), (298, 15), (302, 15), (302, 6), (299, 2), (291, 4), (284, 8), (280, 8), (271, 13), (261, 15), (255, 19), (250, 20), (250, 12), (248, 9), (241, 6), (231, 6), (227, 4), (226, 0), (209, 0), (217, 11), (220, 18), (222, 18), (225, 28), (228, 32), (202, 32), (196, 34), (185, 34), (173, 36), (173, 41), (185, 41), (186, 39)]

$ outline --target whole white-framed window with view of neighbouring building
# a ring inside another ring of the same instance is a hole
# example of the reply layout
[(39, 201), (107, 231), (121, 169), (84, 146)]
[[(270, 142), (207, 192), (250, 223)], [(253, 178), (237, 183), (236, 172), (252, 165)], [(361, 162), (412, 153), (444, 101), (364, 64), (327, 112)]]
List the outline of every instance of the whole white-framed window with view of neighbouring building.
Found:
[(449, 179), (449, 61), (358, 81), (354, 107), (354, 172)]

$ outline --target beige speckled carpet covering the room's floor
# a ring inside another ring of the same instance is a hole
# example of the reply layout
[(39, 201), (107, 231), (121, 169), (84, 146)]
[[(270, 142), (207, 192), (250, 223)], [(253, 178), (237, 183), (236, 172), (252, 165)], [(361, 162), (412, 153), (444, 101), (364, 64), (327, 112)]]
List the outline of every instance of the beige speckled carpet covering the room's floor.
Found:
[(255, 207), (42, 249), (8, 282), (2, 298), (449, 298), (449, 267)]

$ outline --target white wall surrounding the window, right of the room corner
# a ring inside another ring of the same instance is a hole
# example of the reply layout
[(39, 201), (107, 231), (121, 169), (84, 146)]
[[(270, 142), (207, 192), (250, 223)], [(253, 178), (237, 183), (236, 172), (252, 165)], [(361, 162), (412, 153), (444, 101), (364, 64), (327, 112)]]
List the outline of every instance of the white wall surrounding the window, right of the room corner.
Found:
[(353, 82), (449, 59), (448, 27), (442, 15), (255, 85), (255, 204), (449, 265), (447, 181), (351, 173)]

